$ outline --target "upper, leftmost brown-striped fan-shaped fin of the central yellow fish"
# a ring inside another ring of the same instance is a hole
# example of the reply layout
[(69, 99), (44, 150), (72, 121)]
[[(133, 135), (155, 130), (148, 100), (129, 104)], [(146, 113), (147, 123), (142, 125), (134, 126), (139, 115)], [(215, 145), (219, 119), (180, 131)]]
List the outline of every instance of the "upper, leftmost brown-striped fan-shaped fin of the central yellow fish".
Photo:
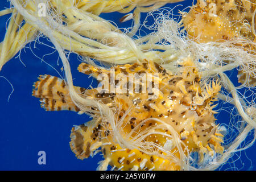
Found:
[[(85, 90), (79, 87), (75, 89), (77, 92)], [(65, 81), (55, 76), (41, 75), (34, 84), (32, 96), (40, 98), (41, 106), (47, 111), (80, 111), (72, 102)]]

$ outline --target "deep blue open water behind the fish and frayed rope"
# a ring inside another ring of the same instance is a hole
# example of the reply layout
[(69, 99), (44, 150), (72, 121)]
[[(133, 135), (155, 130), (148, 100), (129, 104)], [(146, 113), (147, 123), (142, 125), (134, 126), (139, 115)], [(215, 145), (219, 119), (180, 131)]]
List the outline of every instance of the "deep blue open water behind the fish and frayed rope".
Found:
[[(174, 7), (177, 3), (167, 5)], [(183, 2), (183, 7), (192, 5), (192, 1)], [(9, 7), (6, 1), (0, 2), (0, 9)], [(123, 15), (119, 13), (104, 14), (104, 18), (114, 20), (119, 27), (129, 27), (129, 23), (118, 23), (118, 19)], [(144, 15), (143, 15), (144, 16)], [(3, 40), (5, 35), (5, 27), (9, 15), (0, 17), (0, 40)], [(52, 46), (47, 39), (41, 38), (41, 42)], [(29, 49), (28, 47), (32, 48)], [(52, 53), (51, 55), (44, 56)], [(35, 56), (36, 55), (36, 56)], [(17, 55), (18, 56), (18, 55)], [(44, 58), (43, 58), (44, 56)], [(15, 56), (16, 57), (16, 56)], [(88, 115), (78, 115), (70, 111), (48, 111), (40, 107), (38, 98), (32, 97), (32, 85), (37, 80), (39, 75), (59, 76), (57, 72), (49, 67), (40, 59), (51, 64), (62, 75), (60, 71), (62, 67), (57, 64), (58, 55), (53, 53), (53, 49), (40, 45), (38, 43), (27, 45), (27, 48), (22, 49), (20, 56), (10, 60), (0, 72), (0, 76), (6, 77), (13, 85), (4, 78), (0, 78), (0, 170), (94, 170), (97, 168), (97, 162), (102, 160), (101, 155), (96, 155), (94, 158), (79, 160), (69, 147), (69, 135), (73, 125), (90, 120)], [(22, 64), (22, 62), (26, 67)], [(71, 54), (70, 62), (74, 84), (87, 88), (93, 81), (92, 78), (79, 73), (77, 66), (79, 61), (77, 56)], [(233, 73), (230, 76), (235, 76)], [(235, 78), (234, 78), (235, 79)], [(96, 86), (93, 81), (93, 86)], [(221, 112), (217, 116), (218, 122), (229, 121), (229, 115)], [(237, 169), (255, 170), (256, 156), (255, 145), (245, 152), (238, 153), (234, 159)], [(46, 165), (38, 164), (38, 152), (46, 152)], [(229, 160), (233, 163), (232, 160)], [(221, 170), (230, 169), (230, 165), (225, 165)]]

